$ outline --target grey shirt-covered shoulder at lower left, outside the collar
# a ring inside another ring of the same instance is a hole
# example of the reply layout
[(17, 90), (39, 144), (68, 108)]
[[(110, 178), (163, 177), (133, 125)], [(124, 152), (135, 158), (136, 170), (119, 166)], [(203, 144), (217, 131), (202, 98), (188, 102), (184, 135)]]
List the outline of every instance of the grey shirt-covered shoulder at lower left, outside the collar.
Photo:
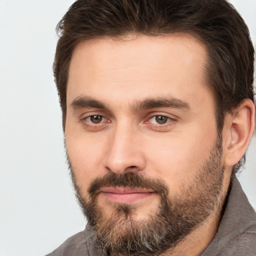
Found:
[(85, 230), (66, 239), (58, 248), (46, 256), (87, 256), (88, 248)]

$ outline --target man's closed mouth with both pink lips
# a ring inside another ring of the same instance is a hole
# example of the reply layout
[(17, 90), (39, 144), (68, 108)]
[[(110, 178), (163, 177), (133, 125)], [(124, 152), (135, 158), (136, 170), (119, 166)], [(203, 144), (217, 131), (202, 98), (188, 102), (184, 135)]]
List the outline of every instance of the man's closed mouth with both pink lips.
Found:
[(102, 194), (108, 201), (125, 204), (148, 198), (155, 193), (151, 189), (128, 187), (104, 187), (99, 191), (99, 194)]

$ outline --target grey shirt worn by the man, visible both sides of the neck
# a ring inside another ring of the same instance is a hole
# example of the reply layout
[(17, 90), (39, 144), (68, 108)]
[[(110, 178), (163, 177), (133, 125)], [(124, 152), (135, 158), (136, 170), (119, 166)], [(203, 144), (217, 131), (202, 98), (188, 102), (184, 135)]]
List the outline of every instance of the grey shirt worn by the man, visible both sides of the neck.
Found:
[[(47, 256), (102, 256), (88, 227)], [(256, 213), (235, 177), (217, 233), (199, 256), (256, 256)]]

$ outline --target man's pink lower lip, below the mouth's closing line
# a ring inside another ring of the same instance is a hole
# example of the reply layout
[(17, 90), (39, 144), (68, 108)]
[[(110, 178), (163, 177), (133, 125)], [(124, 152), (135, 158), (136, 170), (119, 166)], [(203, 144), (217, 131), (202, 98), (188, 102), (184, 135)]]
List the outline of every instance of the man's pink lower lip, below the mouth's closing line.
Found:
[(147, 198), (154, 194), (154, 192), (135, 192), (135, 193), (112, 193), (112, 192), (100, 192), (104, 197), (112, 202), (116, 203), (134, 203), (137, 200)]

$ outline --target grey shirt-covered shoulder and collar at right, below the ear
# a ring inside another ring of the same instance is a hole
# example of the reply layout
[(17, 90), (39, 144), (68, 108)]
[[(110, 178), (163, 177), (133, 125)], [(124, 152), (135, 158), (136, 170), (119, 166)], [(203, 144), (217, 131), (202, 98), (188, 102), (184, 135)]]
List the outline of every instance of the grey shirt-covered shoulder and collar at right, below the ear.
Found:
[(256, 212), (236, 177), (223, 210), (218, 230), (200, 256), (256, 256)]

